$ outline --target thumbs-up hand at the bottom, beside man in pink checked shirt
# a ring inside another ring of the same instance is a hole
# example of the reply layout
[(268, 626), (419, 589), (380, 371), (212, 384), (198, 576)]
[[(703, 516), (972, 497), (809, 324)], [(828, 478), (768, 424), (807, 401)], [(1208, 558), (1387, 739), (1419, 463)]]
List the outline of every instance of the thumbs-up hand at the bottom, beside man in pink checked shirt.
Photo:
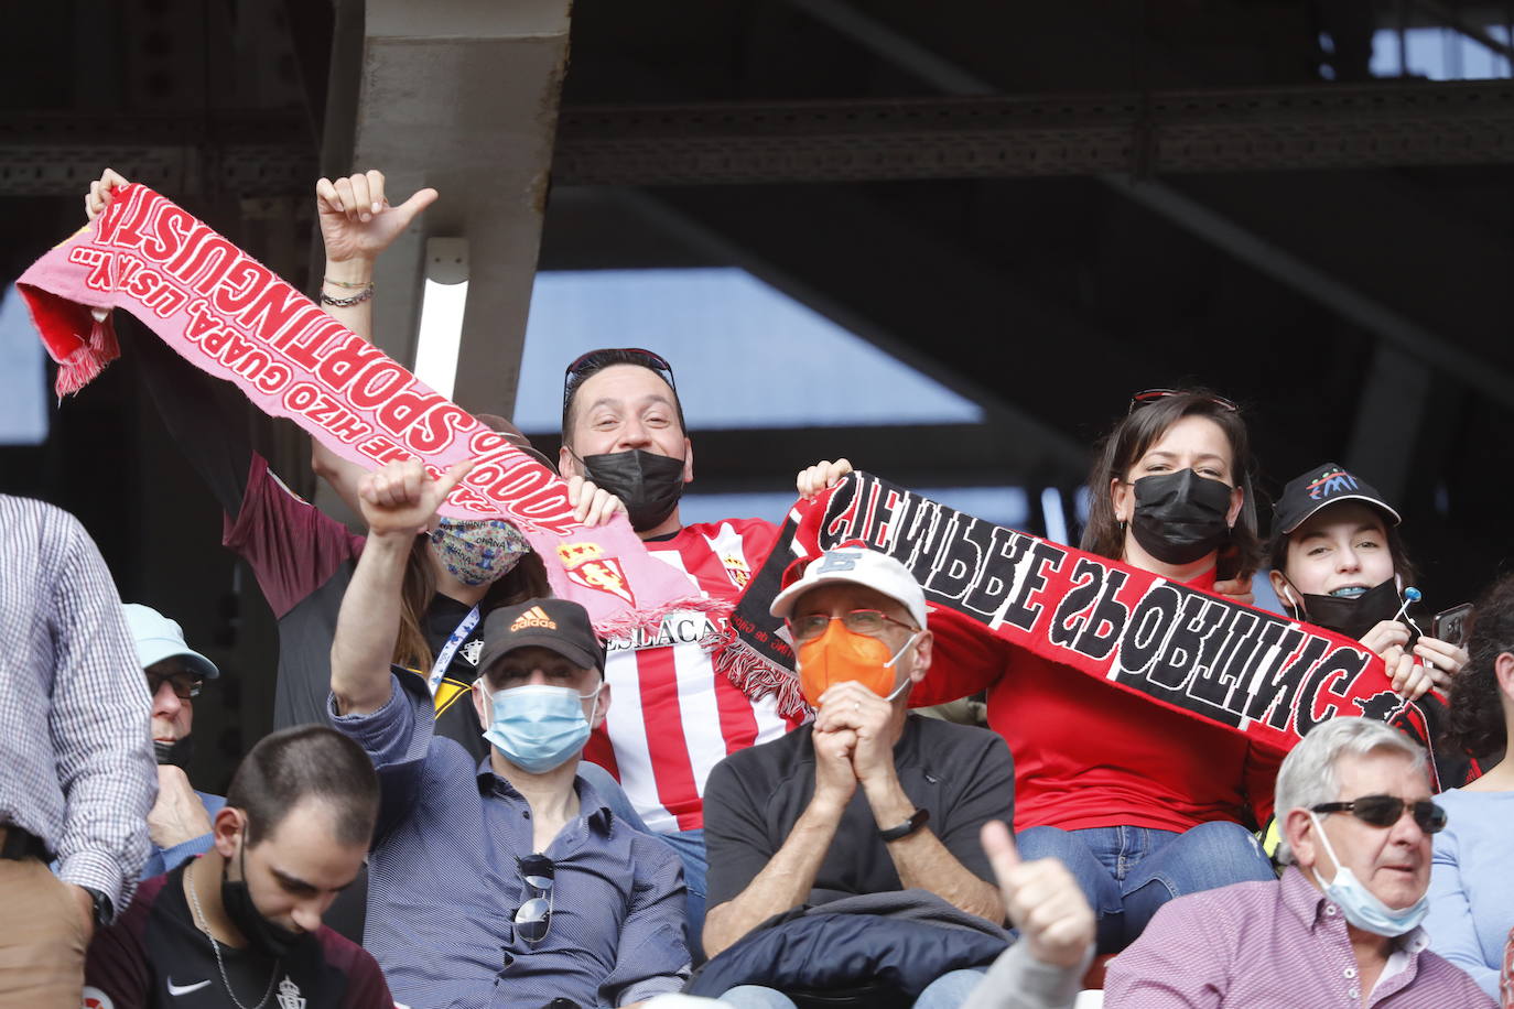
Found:
[(1093, 909), (1067, 867), (1054, 858), (1020, 861), (1008, 827), (983, 824), (983, 850), (1004, 893), (1010, 921), (1031, 956), (1052, 967), (1078, 967), (1093, 945)]

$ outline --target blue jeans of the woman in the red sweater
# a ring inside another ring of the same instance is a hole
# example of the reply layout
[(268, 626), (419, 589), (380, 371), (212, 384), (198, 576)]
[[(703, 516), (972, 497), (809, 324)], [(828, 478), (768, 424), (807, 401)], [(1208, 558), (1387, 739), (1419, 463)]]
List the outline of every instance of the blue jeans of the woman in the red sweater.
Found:
[(1214, 820), (1178, 834), (1148, 827), (1030, 827), (1014, 838), (1020, 858), (1058, 858), (1099, 920), (1099, 953), (1136, 941), (1173, 897), (1248, 880), (1272, 880), (1272, 862), (1238, 823)]

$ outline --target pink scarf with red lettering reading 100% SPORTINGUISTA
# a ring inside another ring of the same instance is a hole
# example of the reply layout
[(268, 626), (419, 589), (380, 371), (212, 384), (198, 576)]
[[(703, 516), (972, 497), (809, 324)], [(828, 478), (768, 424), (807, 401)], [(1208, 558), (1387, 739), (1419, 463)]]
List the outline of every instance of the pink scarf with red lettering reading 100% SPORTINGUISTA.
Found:
[(669, 610), (707, 605), (646, 554), (624, 516), (592, 529), (575, 522), (566, 484), (547, 466), (145, 186), (118, 189), (94, 224), (36, 260), (17, 287), (58, 362), (59, 398), (120, 355), (103, 310), (121, 307), (342, 458), (368, 469), (419, 458), (433, 477), (475, 460), (442, 514), (521, 529), (553, 591), (583, 604), (601, 634), (654, 628)]

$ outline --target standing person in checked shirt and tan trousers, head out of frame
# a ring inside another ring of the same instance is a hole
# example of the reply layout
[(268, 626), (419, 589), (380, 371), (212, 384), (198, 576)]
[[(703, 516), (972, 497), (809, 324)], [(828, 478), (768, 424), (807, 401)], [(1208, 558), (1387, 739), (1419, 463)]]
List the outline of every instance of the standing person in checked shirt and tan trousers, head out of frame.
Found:
[(147, 861), (150, 702), (89, 534), (5, 495), (0, 641), (0, 1007), (76, 1009), (85, 947)]

